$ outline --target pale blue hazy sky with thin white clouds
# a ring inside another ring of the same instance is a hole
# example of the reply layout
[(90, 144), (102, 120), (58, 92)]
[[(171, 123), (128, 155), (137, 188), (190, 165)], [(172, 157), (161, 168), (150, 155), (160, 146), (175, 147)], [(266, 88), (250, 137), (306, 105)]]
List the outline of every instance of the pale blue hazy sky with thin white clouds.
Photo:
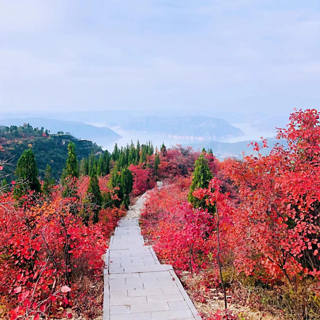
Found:
[(319, 108), (319, 0), (0, 0), (0, 110)]

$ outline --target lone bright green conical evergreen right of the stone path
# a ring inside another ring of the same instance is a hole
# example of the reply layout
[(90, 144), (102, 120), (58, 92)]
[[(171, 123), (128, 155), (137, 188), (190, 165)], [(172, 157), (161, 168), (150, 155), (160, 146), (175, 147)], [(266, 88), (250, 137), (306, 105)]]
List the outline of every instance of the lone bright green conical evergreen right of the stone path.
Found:
[(202, 207), (203, 209), (208, 209), (208, 211), (214, 213), (214, 208), (210, 204), (207, 206), (205, 199), (200, 200), (192, 195), (192, 192), (198, 188), (208, 188), (209, 180), (211, 179), (212, 173), (208, 166), (208, 160), (201, 154), (195, 163), (195, 171), (193, 172), (188, 201), (193, 204), (194, 208)]

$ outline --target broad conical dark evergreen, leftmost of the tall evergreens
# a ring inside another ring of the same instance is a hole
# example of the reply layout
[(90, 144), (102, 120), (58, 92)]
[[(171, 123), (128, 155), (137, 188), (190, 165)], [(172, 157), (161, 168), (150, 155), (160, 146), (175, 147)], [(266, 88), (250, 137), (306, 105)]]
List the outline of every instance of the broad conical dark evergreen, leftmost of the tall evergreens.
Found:
[(24, 150), (20, 156), (17, 163), (16, 175), (21, 181), (19, 188), (15, 188), (14, 190), (16, 196), (26, 194), (28, 190), (41, 192), (36, 159), (31, 149)]

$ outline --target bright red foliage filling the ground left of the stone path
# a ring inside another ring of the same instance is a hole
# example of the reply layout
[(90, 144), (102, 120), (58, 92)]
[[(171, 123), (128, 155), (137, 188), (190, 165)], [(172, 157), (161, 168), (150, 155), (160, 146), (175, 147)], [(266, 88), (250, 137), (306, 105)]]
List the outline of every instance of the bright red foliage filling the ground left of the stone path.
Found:
[(44, 198), (30, 193), (19, 207), (11, 193), (0, 196), (1, 317), (64, 316), (65, 308), (75, 309), (75, 301), (87, 295), (79, 278), (102, 277), (106, 243), (124, 212), (103, 209), (99, 223), (85, 224), (76, 213), (80, 195), (62, 193), (60, 186)]

